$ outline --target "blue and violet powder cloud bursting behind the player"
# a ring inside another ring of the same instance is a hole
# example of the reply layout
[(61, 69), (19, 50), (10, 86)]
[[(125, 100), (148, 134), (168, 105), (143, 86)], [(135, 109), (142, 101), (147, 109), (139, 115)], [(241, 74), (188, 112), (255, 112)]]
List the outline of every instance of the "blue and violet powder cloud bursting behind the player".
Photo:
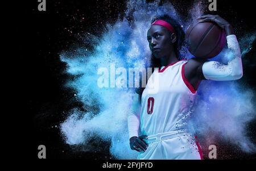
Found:
[[(67, 144), (82, 144), (90, 149), (90, 137), (100, 136), (103, 140), (110, 140), (110, 153), (117, 159), (136, 159), (137, 152), (130, 149), (127, 131), (127, 111), (131, 106), (134, 89), (117, 87), (120, 84), (117, 80), (115, 87), (100, 88), (97, 82), (101, 73), (97, 71), (99, 68), (110, 70), (110, 64), (127, 70), (146, 66), (151, 55), (146, 34), (153, 16), (169, 14), (183, 23), (185, 30), (189, 24), (196, 22), (196, 17), (203, 11), (200, 3), (196, 3), (190, 11), (189, 22), (185, 22), (170, 2), (162, 6), (158, 6), (158, 3), (128, 1), (124, 18), (118, 19), (114, 24), (107, 24), (101, 38), (89, 33), (85, 36), (85, 41), (93, 45), (93, 51), (77, 47), (75, 53), (61, 53), (61, 61), (68, 66), (67, 73), (75, 76), (68, 81), (67, 86), (76, 90), (76, 98), (83, 103), (85, 109), (73, 109), (61, 123), (61, 133)], [(131, 14), (133, 21), (127, 20)], [(250, 51), (247, 47), (254, 40), (255, 35), (254, 38), (245, 37), (241, 40), (246, 44), (241, 46), (242, 55)], [(191, 57), (188, 51), (184, 51), (183, 55)], [(224, 50), (212, 60), (220, 61), (227, 57), (230, 60), (230, 56), (232, 55)], [(200, 135), (207, 135), (212, 131), (211, 137), (221, 136), (223, 139), (233, 140), (244, 151), (255, 152), (253, 143), (246, 136), (246, 124), (255, 117), (252, 98), (253, 92), (244, 90), (236, 81), (202, 81), (189, 127)]]

